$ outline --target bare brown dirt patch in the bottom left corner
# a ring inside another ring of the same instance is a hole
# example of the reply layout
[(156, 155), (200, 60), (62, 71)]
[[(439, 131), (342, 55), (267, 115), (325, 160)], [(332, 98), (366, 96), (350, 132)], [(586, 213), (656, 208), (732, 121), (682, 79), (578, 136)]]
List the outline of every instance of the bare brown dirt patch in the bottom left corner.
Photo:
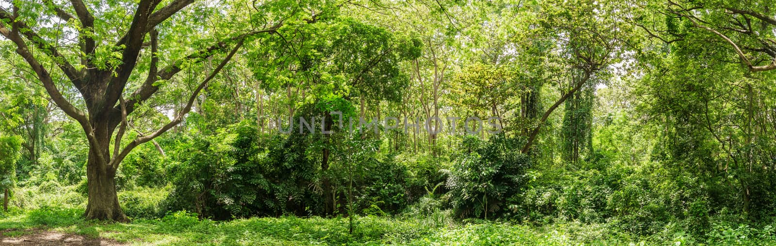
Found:
[(67, 234), (55, 231), (32, 231), (19, 237), (5, 237), (0, 232), (0, 245), (43, 245), (43, 246), (120, 246), (113, 239), (89, 238), (78, 234)]

